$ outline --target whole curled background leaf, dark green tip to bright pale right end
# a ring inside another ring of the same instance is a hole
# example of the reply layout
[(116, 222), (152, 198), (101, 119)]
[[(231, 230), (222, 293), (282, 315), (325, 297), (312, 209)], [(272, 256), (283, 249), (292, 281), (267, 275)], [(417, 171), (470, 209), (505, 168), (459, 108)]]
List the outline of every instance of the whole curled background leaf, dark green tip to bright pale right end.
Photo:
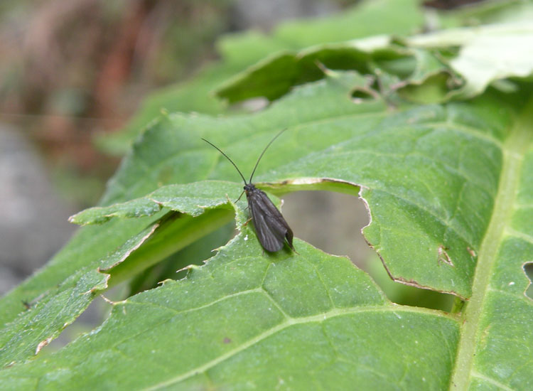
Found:
[[(294, 85), (324, 77), (323, 65), (373, 73), (382, 80), (391, 78), (391, 82), (381, 83), (387, 87), (381, 92), (398, 90), (404, 99), (429, 103), (475, 97), (490, 83), (533, 73), (531, 50), (520, 50), (533, 46), (529, 22), (457, 28), (413, 36), (402, 43), (406, 47), (377, 37), (279, 53), (228, 80), (217, 94), (230, 102), (252, 97), (275, 100)], [(439, 53), (456, 46), (461, 49), (452, 58), (445, 59)], [(517, 86), (507, 81), (505, 88), (516, 90)]]

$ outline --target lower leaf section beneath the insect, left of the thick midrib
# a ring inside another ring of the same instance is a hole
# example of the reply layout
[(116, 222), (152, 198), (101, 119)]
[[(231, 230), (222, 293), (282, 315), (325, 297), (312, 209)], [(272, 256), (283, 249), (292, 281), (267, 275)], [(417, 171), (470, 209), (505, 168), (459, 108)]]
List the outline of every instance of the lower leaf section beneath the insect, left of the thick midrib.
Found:
[(43, 390), (446, 386), (458, 341), (453, 317), (391, 304), (346, 258), (298, 240), (299, 255), (265, 256), (249, 235), (247, 227), (187, 279), (115, 303), (97, 331), (2, 371), (1, 383)]

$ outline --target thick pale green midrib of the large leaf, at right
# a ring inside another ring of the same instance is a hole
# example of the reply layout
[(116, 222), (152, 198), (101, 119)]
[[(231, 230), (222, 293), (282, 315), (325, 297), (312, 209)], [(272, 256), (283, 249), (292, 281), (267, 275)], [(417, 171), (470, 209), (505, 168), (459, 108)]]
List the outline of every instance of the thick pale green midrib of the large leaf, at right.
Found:
[(524, 155), (532, 144), (533, 99), (518, 117), (510, 136), (505, 141), (502, 153), (503, 164), (495, 198), (494, 210), (485, 238), (480, 247), (478, 263), (472, 284), (472, 296), (463, 311), (463, 330), (459, 341), (456, 365), (450, 382), (450, 390), (467, 390), (470, 376), (473, 375), (473, 359), (478, 341), (478, 325), (483, 316), (485, 297), (490, 289), (490, 277), (497, 259), (497, 251), (510, 226), (512, 212), (515, 209), (519, 177)]

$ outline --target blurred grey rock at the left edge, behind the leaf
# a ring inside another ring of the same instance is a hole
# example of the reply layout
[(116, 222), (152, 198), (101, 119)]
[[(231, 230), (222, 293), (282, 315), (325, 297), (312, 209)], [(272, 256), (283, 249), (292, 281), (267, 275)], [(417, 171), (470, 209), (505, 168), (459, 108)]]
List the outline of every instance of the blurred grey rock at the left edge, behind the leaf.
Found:
[(37, 151), (0, 124), (0, 294), (41, 267), (75, 229)]

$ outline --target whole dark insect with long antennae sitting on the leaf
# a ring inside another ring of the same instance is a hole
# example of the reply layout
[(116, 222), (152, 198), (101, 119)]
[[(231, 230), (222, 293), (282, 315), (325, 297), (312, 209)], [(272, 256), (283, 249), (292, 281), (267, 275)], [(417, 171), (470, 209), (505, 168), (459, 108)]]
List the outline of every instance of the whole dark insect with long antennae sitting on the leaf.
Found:
[[(246, 181), (241, 171), (232, 159), (227, 156), (220, 148), (215, 146), (215, 144), (210, 143), (208, 140), (203, 139), (206, 143), (214, 146), (222, 155), (225, 156), (227, 160), (233, 164), (237, 171), (239, 172), (242, 180), (244, 181), (244, 193), (246, 193), (246, 198), (248, 200), (248, 208), (250, 214), (252, 215), (252, 220), (254, 221), (255, 232), (257, 232), (257, 237), (259, 238), (259, 243), (263, 246), (264, 250), (269, 252), (276, 252), (283, 248), (285, 240), (289, 244), (292, 250), (294, 246), (292, 245), (293, 233), (289, 224), (283, 218), (283, 215), (279, 212), (276, 205), (266, 196), (264, 191), (256, 188), (252, 183), (252, 178), (254, 177), (255, 170), (259, 164), (259, 161), (263, 157), (266, 149), (274, 142), (278, 136), (283, 133), (286, 129), (283, 129), (281, 132), (274, 136), (274, 139), (271, 139), (269, 144), (265, 146), (259, 159), (252, 171), (249, 181)], [(242, 194), (241, 194), (242, 195)], [(240, 198), (240, 197), (239, 197)]]

